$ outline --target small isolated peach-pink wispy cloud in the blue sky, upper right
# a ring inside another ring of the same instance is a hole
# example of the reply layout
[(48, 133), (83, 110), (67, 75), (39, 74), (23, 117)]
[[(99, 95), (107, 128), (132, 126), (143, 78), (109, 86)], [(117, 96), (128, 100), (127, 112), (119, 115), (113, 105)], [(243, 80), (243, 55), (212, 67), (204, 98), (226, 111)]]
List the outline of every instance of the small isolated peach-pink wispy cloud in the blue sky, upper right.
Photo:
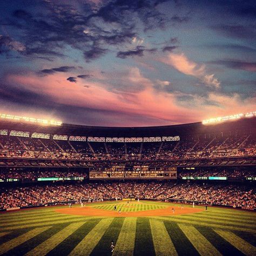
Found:
[(206, 73), (205, 65), (199, 65), (189, 60), (184, 53), (169, 53), (167, 57), (161, 58), (160, 61), (173, 66), (173, 68), (185, 75), (197, 77), (206, 86), (220, 87), (220, 82), (217, 78), (214, 78), (214, 74), (209, 75)]

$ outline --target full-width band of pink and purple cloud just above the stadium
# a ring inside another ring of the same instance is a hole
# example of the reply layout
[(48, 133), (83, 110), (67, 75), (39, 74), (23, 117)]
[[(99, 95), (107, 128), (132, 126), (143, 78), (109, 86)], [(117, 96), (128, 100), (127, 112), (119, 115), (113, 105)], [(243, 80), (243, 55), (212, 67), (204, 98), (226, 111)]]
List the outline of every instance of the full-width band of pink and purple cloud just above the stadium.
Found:
[[(62, 72), (41, 79), (35, 73), (12, 74), (0, 83), (0, 103), (3, 106), (15, 105), (16, 110), (17, 104), (18, 109), (28, 111), (35, 110), (36, 106), (41, 113), (49, 113), (50, 106), (51, 112), (66, 123), (112, 126), (198, 122), (212, 117), (212, 113), (224, 116), (252, 111), (256, 107), (255, 96), (242, 99), (237, 93), (208, 92), (204, 96), (173, 90), (156, 93), (153, 82), (137, 68), (108, 76), (102, 82), (87, 81), (86, 85), (78, 79), (76, 86), (70, 86)], [(156, 83), (169, 87), (165, 80), (157, 80)], [(113, 84), (116, 87), (109, 87)], [(118, 87), (120, 84), (124, 87)], [(125, 85), (129, 84), (134, 90), (125, 90)], [(71, 109), (72, 112), (83, 113), (83, 119), (80, 114), (72, 116)]]

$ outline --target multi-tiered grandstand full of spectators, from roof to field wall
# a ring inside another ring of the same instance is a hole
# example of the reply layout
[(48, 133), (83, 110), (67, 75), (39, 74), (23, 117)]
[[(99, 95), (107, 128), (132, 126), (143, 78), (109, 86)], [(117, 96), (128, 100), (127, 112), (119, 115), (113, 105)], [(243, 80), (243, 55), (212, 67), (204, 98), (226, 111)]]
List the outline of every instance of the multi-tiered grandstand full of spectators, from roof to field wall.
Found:
[(1, 119), (0, 207), (132, 196), (254, 209), (255, 127), (256, 117), (155, 127)]

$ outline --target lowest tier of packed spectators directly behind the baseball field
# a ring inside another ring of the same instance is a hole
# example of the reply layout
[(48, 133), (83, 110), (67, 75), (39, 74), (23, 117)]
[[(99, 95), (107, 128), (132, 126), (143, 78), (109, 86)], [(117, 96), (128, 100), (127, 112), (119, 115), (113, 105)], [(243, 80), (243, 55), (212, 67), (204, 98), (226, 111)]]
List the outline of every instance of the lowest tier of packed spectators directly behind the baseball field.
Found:
[(0, 208), (55, 205), (68, 201), (101, 201), (122, 198), (176, 200), (233, 207), (255, 208), (255, 186), (174, 183), (170, 181), (68, 183), (17, 186), (0, 189)]

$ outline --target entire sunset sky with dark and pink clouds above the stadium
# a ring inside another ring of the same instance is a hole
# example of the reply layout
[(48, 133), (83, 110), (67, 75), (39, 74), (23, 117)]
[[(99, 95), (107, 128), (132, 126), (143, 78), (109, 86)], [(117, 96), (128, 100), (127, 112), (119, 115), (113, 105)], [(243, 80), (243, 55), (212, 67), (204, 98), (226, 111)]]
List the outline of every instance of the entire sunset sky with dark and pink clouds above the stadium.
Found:
[(1, 0), (0, 113), (158, 126), (256, 111), (256, 2)]

